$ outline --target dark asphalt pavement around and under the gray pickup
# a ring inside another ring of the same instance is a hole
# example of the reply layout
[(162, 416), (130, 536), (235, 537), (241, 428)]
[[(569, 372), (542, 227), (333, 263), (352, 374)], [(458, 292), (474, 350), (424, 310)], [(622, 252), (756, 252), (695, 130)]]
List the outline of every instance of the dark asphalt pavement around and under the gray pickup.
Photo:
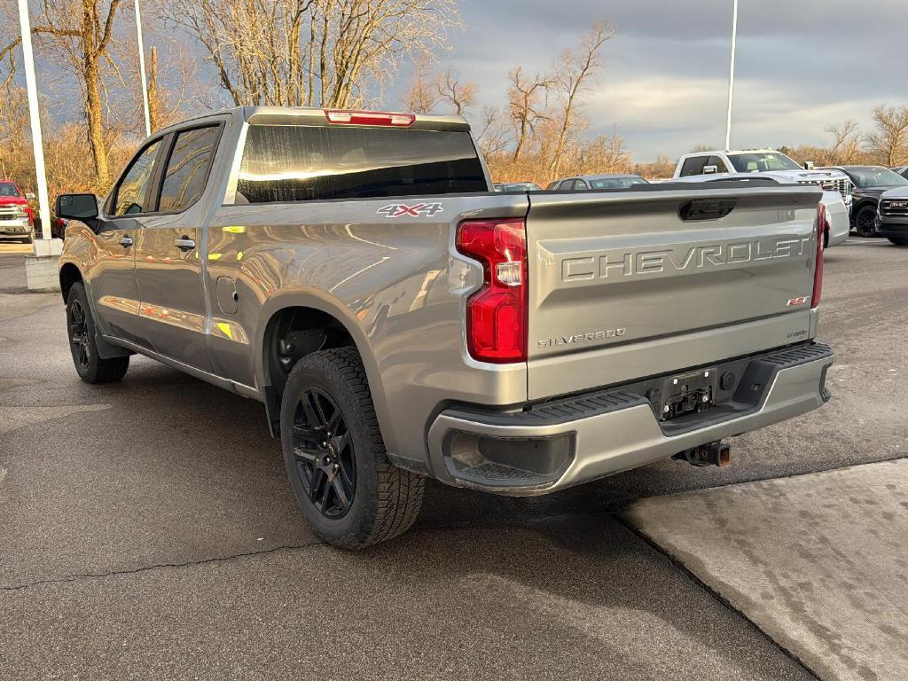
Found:
[(620, 511), (903, 457), (906, 261), (827, 252), (834, 400), (733, 440), (727, 469), (431, 484), (410, 533), (350, 554), (302, 521), (260, 404), (144, 358), (82, 383), (59, 295), (0, 254), (0, 678), (814, 678)]

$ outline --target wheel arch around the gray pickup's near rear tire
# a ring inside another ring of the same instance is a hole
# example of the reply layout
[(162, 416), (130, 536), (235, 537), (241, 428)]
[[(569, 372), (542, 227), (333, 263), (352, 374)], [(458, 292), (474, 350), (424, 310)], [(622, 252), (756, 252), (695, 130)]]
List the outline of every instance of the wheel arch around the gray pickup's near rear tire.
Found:
[[(382, 438), (388, 449), (393, 450), (393, 439), (390, 428), (390, 409), (381, 383), (380, 370), (369, 339), (368, 331), (362, 326), (360, 318), (343, 301), (333, 298), (324, 291), (292, 290), (281, 291), (265, 303), (262, 308), (262, 323), (256, 334), (256, 377), (262, 386), (265, 410), (268, 415), (271, 435), (278, 437), (281, 420), (281, 399), (283, 381), (277, 375), (275, 357), (272, 350), (281, 341), (281, 331), (287, 327), (288, 320), (293, 320), (291, 330), (324, 328), (320, 324), (331, 325), (329, 342), (319, 348), (350, 346), (357, 350), (369, 380), (372, 402), (379, 419)], [(303, 352), (300, 356), (304, 356)], [(299, 360), (299, 357), (296, 358)], [(290, 365), (290, 368), (295, 364)], [(287, 370), (289, 373), (289, 370)]]

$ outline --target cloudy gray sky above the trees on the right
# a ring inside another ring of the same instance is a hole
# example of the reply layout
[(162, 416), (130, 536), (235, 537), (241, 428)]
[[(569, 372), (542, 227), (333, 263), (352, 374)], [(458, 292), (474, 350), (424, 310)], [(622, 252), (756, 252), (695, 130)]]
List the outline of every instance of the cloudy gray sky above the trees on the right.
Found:
[[(545, 70), (595, 17), (615, 22), (590, 98), (592, 132), (635, 158), (722, 146), (732, 0), (463, 0), (466, 31), (441, 59), (500, 105), (508, 70)], [(870, 126), (908, 104), (908, 0), (739, 0), (732, 145), (824, 143), (829, 123)]]

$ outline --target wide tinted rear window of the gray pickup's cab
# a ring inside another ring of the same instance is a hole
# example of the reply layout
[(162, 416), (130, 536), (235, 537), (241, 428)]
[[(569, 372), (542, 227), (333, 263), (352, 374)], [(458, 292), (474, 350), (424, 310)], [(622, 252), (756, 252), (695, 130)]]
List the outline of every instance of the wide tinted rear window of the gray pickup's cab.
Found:
[(487, 192), (466, 132), (251, 125), (237, 202)]

